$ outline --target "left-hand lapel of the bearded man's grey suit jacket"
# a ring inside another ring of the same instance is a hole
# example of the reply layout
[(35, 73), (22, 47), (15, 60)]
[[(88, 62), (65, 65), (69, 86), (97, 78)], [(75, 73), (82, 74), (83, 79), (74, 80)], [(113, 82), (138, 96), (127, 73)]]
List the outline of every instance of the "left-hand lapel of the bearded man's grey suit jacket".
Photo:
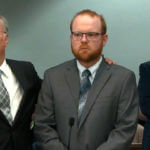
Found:
[(75, 60), (73, 60), (67, 67), (65, 78), (77, 108), (79, 100), (80, 79)]

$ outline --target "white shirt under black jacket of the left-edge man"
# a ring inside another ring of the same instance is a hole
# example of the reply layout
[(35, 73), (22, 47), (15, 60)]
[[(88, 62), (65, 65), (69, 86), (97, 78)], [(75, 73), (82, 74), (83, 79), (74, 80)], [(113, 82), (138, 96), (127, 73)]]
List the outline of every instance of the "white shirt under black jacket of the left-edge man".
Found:
[(6, 63), (6, 60), (4, 60), (3, 64), (0, 66), (0, 69), (4, 73), (2, 74), (2, 80), (10, 97), (11, 114), (14, 120), (22, 100), (23, 89), (11, 71), (11, 68)]

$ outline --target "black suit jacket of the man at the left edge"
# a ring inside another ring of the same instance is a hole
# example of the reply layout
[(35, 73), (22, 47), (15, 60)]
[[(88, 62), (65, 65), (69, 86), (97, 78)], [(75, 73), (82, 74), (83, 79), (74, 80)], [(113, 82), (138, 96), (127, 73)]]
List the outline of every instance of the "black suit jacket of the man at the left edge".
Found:
[(24, 95), (12, 126), (0, 110), (0, 150), (31, 150), (30, 123), (41, 80), (31, 63), (6, 61), (22, 86)]

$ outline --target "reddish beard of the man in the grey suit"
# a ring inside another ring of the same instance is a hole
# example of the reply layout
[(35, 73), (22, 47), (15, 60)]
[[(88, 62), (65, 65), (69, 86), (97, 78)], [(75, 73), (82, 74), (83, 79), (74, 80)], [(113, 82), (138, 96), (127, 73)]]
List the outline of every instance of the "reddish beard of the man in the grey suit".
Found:
[(72, 47), (72, 53), (81, 62), (84, 63), (90, 63), (92, 61), (95, 61), (100, 58), (102, 48), (99, 47), (98, 49), (93, 50), (90, 46), (88, 45), (81, 45), (78, 49), (75, 49)]

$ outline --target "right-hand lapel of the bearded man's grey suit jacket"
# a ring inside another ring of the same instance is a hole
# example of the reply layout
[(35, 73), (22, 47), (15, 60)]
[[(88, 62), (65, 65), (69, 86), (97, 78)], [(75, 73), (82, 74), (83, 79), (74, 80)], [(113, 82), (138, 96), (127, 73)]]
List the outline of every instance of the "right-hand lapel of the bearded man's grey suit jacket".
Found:
[(107, 81), (109, 80), (111, 76), (111, 72), (109, 69), (110, 69), (110, 66), (106, 64), (104, 60), (102, 60), (102, 63), (99, 69), (97, 70), (94, 82), (89, 92), (89, 97), (87, 99), (87, 102), (84, 107), (85, 109), (83, 110), (83, 113), (81, 116), (79, 128), (84, 123), (87, 115), (90, 113), (90, 110), (92, 106), (94, 105), (97, 96), (100, 94), (101, 90), (103, 89)]

